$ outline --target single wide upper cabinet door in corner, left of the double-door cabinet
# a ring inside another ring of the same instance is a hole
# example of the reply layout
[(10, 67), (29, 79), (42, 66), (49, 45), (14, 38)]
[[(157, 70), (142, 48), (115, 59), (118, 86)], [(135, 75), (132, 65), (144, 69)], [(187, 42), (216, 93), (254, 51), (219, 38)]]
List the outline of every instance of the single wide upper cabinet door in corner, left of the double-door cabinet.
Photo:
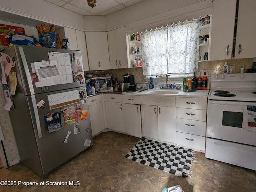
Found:
[(85, 32), (91, 71), (110, 69), (107, 32)]

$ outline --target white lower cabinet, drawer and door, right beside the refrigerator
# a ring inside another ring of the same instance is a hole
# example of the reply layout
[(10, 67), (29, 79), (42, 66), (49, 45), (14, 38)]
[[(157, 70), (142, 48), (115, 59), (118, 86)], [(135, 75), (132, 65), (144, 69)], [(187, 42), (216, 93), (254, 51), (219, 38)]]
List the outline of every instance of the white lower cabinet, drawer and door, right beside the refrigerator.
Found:
[(92, 136), (105, 129), (104, 114), (102, 107), (102, 95), (88, 97)]

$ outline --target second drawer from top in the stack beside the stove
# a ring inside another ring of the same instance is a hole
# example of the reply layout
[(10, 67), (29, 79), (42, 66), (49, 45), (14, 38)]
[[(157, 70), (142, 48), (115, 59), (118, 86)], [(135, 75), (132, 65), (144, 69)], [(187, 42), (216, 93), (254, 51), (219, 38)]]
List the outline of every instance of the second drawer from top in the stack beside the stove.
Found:
[(176, 108), (176, 118), (206, 121), (206, 110)]

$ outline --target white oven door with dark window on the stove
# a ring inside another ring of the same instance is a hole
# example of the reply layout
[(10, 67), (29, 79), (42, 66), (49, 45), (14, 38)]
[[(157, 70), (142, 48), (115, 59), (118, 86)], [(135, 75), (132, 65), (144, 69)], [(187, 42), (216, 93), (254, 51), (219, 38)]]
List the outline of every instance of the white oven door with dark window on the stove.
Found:
[(247, 126), (247, 106), (255, 109), (256, 102), (209, 100), (206, 137), (256, 146), (256, 131)]

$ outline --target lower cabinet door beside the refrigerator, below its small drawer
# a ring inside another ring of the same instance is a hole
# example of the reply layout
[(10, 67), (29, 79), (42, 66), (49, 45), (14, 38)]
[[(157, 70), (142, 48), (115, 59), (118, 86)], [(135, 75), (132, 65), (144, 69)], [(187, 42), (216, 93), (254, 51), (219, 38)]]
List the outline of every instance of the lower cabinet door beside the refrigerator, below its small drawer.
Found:
[(92, 136), (94, 136), (105, 129), (102, 102), (89, 106), (89, 112), (92, 125)]

